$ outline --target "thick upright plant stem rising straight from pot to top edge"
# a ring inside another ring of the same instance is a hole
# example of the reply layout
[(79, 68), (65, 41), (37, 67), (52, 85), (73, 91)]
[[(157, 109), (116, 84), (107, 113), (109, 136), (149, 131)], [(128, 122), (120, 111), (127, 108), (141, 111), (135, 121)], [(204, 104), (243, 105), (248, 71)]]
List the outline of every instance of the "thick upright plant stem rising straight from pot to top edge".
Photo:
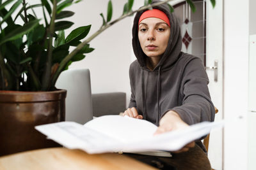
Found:
[(52, 9), (52, 17), (51, 17), (51, 23), (50, 23), (50, 29), (49, 29), (49, 46), (47, 50), (47, 61), (45, 63), (45, 73), (43, 74), (42, 78), (42, 90), (46, 91), (50, 88), (51, 85), (51, 66), (52, 66), (52, 36), (54, 33), (54, 22), (56, 17), (56, 8), (57, 8), (57, 1), (54, 0), (52, 2), (53, 9)]

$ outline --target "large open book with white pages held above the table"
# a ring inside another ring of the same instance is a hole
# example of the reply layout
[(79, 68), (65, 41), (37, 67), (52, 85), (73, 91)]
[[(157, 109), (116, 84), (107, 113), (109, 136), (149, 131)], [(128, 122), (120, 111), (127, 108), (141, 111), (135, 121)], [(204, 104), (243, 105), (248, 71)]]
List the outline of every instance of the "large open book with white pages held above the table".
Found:
[(154, 136), (157, 126), (147, 120), (120, 115), (108, 115), (90, 120), (84, 125), (58, 122), (38, 125), (36, 130), (47, 138), (70, 149), (87, 153), (175, 151), (207, 135), (223, 122), (201, 122), (179, 131)]

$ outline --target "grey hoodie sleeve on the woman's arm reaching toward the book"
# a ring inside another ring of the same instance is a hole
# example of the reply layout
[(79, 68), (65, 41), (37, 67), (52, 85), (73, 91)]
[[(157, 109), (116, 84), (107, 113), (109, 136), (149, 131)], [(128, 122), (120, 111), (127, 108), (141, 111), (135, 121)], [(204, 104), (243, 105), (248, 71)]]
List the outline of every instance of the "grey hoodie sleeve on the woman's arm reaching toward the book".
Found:
[(184, 68), (180, 86), (182, 105), (172, 108), (189, 125), (214, 121), (215, 111), (209, 89), (209, 79), (199, 58), (190, 60)]

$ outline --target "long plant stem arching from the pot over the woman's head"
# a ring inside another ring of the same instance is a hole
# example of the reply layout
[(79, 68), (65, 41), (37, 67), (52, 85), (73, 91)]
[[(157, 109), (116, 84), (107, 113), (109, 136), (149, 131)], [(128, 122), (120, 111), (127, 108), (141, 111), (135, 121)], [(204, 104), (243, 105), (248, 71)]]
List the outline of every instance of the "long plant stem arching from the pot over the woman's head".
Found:
[(100, 27), (100, 29), (95, 32), (94, 34), (92, 34), (92, 36), (90, 36), (89, 38), (85, 39), (82, 43), (80, 43), (71, 53), (69, 53), (65, 59), (63, 59), (60, 63), (60, 66), (58, 67), (56, 73), (54, 74), (53, 78), (52, 78), (52, 84), (51, 87), (55, 86), (55, 83), (58, 79), (58, 77), (60, 76), (61, 71), (63, 70), (63, 68), (67, 65), (68, 61), (70, 61), (72, 59), (72, 57), (74, 57), (74, 55), (76, 55), (76, 53), (78, 53), (83, 47), (84, 45), (88, 44), (90, 41), (92, 41), (92, 39), (94, 39), (96, 36), (98, 36), (102, 31), (104, 31), (105, 29), (107, 29), (108, 27), (110, 27), (111, 25), (114, 25), (116, 22), (124, 19), (125, 17), (129, 17), (132, 14), (138, 12), (138, 11), (143, 11), (143, 10), (147, 10), (150, 8), (153, 8), (154, 6), (158, 6), (160, 4), (164, 4), (164, 3), (168, 3), (169, 1), (172, 0), (165, 0), (165, 1), (161, 1), (159, 3), (154, 3), (154, 4), (148, 4), (147, 6), (143, 6), (140, 9), (136, 10), (136, 11), (129, 11), (128, 13), (121, 15), (119, 18), (117, 18), (116, 20), (113, 20), (112, 22), (107, 23), (106, 25)]

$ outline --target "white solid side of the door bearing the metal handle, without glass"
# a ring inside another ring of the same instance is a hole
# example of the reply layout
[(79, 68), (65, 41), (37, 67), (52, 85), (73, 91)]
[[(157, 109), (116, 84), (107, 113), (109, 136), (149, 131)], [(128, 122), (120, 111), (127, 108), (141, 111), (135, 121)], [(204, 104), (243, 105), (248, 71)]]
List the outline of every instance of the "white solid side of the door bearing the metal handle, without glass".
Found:
[[(215, 121), (223, 118), (223, 2), (216, 1), (215, 8), (206, 0), (206, 67), (209, 76), (211, 99), (218, 113)], [(218, 66), (216, 66), (218, 65)], [(217, 69), (211, 69), (216, 66)], [(223, 131), (211, 132), (209, 160), (213, 169), (223, 169)]]

